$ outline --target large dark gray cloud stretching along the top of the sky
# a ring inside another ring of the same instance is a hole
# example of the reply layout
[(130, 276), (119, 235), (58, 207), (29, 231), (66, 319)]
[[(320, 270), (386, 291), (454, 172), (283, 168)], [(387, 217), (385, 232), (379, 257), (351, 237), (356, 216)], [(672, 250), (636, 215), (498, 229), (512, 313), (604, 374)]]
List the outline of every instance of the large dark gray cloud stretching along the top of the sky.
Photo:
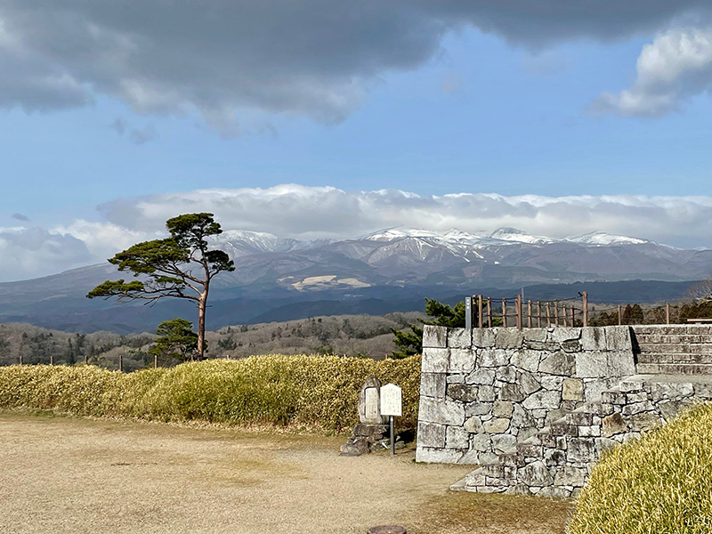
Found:
[(240, 109), (336, 122), (384, 72), (422, 65), (455, 28), (472, 26), (536, 48), (650, 33), (700, 15), (708, 4), (4, 0), (0, 106), (57, 109), (103, 94), (147, 114), (197, 109), (225, 135), (239, 134)]

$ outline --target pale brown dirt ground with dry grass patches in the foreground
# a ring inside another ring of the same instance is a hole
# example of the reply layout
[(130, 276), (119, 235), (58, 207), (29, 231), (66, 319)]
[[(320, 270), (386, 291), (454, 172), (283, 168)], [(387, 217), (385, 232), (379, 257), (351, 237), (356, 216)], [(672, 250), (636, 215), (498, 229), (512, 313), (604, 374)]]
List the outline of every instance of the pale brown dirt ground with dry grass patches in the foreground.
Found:
[(452, 492), (471, 467), (344, 437), (0, 413), (0, 532), (561, 534), (570, 502)]

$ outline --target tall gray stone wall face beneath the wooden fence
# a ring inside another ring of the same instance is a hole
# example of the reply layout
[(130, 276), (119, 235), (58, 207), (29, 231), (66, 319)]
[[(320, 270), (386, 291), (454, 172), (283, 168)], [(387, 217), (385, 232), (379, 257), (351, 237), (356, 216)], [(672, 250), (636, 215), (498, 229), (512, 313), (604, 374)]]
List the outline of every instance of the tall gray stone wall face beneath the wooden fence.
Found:
[(416, 459), (483, 464), (635, 374), (628, 327), (425, 326)]

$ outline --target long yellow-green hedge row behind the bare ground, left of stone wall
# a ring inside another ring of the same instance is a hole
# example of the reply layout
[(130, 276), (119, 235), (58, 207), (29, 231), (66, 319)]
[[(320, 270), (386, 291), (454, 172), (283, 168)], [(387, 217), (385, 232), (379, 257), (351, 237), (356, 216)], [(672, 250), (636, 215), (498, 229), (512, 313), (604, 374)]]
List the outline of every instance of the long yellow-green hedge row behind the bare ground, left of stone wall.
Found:
[(397, 424), (415, 427), (420, 357), (268, 355), (129, 374), (93, 366), (10, 366), (0, 368), (0, 408), (341, 431), (358, 422), (360, 387), (369, 375), (401, 386), (403, 417)]

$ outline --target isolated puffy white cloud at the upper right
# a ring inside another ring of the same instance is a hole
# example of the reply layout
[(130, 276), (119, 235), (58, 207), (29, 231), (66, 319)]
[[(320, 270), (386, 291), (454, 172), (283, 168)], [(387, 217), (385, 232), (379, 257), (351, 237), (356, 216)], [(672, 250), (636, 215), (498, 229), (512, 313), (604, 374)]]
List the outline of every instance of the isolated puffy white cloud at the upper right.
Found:
[(660, 117), (710, 89), (712, 27), (671, 28), (643, 46), (635, 84), (620, 93), (602, 93), (590, 109), (595, 114)]

